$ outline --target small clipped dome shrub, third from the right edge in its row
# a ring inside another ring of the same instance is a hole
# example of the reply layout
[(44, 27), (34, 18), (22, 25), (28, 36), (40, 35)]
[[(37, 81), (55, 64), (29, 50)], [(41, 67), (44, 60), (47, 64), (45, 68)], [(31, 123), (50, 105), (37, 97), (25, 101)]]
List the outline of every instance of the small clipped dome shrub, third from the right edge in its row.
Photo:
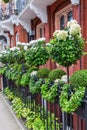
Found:
[(39, 69), (37, 72), (38, 78), (48, 78), (48, 75), (50, 73), (50, 70), (47, 68)]

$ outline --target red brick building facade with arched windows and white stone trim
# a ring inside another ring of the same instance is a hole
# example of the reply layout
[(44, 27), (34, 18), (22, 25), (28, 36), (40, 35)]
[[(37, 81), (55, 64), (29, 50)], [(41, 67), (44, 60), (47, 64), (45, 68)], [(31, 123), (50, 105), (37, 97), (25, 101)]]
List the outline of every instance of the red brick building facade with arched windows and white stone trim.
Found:
[[(74, 3), (73, 3), (74, 1)], [(16, 46), (16, 42), (29, 42), (32, 39), (45, 37), (47, 43), (52, 38), (56, 29), (62, 29), (67, 21), (76, 19), (82, 28), (82, 36), (85, 39), (85, 51), (87, 51), (87, 1), (83, 0), (49, 0), (49, 2), (34, 1), (28, 3), (18, 16), (12, 16), (9, 20), (0, 22), (4, 33), (10, 35), (10, 47)], [(39, 5), (40, 4), (40, 5)], [(5, 27), (3, 27), (5, 26)], [(87, 56), (77, 61), (70, 67), (70, 74), (79, 69), (87, 68)], [(49, 60), (46, 67), (50, 69), (63, 68)]]

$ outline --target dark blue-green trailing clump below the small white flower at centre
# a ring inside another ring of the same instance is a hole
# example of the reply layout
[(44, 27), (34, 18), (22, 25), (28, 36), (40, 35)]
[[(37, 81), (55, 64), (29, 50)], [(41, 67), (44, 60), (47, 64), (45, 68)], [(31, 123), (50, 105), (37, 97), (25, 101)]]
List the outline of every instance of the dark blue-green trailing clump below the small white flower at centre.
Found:
[(32, 76), (29, 82), (29, 89), (31, 93), (39, 93), (41, 91), (41, 86), (43, 84), (43, 79), (37, 79)]

